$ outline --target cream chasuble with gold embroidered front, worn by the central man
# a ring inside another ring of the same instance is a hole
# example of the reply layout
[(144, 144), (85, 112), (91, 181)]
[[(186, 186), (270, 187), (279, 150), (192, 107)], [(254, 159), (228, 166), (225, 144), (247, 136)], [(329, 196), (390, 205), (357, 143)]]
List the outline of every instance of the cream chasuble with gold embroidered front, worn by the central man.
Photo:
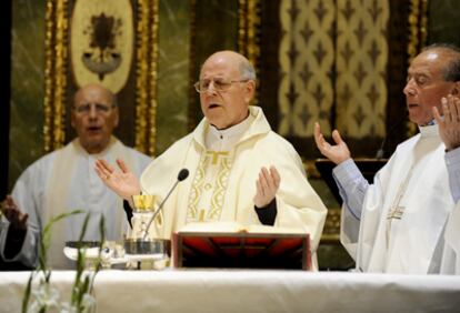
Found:
[(158, 202), (181, 169), (190, 172), (166, 201), (162, 216), (156, 219), (150, 232), (170, 239), (171, 233), (197, 221), (260, 224), (253, 204), (256, 181), (262, 166), (274, 165), (281, 175), (274, 225), (309, 233), (314, 253), (327, 210), (309, 184), (296, 150), (271, 131), (260, 108), (250, 107), (248, 119), (233, 128), (216, 132), (203, 119), (143, 172), (142, 191), (157, 195)]

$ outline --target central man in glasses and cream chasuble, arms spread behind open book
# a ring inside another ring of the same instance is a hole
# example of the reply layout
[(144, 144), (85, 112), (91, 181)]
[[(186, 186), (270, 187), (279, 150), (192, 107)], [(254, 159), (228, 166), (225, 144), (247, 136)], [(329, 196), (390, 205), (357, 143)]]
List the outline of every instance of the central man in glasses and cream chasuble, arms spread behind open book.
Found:
[(170, 239), (197, 222), (268, 224), (309, 233), (314, 253), (327, 209), (293, 147), (271, 130), (261, 108), (249, 105), (256, 91), (253, 67), (239, 53), (216, 52), (194, 88), (204, 119), (192, 133), (158, 156), (140, 181), (126, 166), (119, 171), (103, 160), (97, 163), (101, 180), (126, 200), (142, 192), (161, 202), (178, 172), (188, 169), (190, 178), (152, 224), (157, 238)]

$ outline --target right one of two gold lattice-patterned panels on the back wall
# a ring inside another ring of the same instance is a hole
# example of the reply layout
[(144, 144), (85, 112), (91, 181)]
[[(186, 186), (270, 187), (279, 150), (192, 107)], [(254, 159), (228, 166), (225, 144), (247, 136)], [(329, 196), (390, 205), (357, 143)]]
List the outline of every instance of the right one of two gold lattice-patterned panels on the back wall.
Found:
[(348, 137), (384, 137), (388, 1), (338, 1), (337, 128)]

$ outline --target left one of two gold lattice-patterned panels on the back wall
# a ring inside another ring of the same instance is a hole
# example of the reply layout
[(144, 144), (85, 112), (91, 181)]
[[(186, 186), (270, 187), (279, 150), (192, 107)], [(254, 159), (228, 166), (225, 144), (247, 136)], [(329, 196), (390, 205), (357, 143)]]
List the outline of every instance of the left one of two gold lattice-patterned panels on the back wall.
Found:
[(281, 1), (281, 81), (278, 131), (286, 137), (311, 137), (314, 121), (329, 131), (333, 105), (336, 55), (333, 0)]

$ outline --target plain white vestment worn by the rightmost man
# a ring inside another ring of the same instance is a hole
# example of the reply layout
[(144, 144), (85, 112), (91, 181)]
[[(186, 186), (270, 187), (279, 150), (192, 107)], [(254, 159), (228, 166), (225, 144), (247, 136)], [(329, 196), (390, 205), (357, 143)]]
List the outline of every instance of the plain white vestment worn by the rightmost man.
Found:
[[(343, 209), (341, 240), (364, 272), (424, 274), (453, 208), (438, 125), (400, 144), (369, 186), (359, 223)], [(354, 253), (354, 254), (353, 254)]]

